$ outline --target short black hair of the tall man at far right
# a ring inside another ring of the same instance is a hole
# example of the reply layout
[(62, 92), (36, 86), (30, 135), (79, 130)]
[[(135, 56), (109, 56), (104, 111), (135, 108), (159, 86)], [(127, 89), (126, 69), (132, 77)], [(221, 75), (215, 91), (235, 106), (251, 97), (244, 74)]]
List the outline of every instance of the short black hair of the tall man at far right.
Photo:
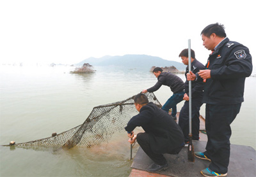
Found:
[(201, 32), (201, 35), (204, 34), (204, 36), (206, 36), (207, 38), (210, 38), (212, 33), (215, 33), (216, 36), (219, 36), (221, 38), (227, 37), (224, 25), (219, 23), (207, 25), (207, 27), (205, 27)]

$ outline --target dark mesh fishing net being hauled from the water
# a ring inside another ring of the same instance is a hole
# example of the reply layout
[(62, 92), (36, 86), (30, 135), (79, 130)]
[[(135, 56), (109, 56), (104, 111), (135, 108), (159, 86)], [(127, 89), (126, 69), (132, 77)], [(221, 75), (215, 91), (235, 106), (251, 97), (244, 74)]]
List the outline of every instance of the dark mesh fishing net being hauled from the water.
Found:
[[(148, 101), (161, 108), (161, 103), (153, 93), (146, 93)], [(115, 132), (125, 131), (124, 127), (134, 113), (138, 113), (132, 97), (116, 103), (104, 104), (93, 108), (83, 124), (52, 137), (37, 139), (15, 146), (60, 146), (63, 148), (91, 147), (108, 141)]]

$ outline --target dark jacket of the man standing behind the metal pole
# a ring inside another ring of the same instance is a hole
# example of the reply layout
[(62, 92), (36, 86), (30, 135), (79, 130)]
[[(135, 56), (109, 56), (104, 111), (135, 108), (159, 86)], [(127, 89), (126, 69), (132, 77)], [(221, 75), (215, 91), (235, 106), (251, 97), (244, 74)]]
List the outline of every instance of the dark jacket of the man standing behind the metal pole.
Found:
[[(198, 60), (193, 60), (193, 62), (191, 62), (191, 71), (196, 74), (198, 73), (199, 70), (203, 70), (205, 69), (204, 64), (198, 62)], [(188, 66), (186, 67), (186, 73), (185, 76), (187, 78), (187, 73), (188, 73)], [(204, 94), (204, 83), (202, 81), (192, 81), (191, 84), (191, 91), (192, 91), (192, 98), (193, 97), (202, 97)], [(186, 80), (185, 81), (185, 92), (186, 94), (188, 94), (189, 96), (189, 81)]]

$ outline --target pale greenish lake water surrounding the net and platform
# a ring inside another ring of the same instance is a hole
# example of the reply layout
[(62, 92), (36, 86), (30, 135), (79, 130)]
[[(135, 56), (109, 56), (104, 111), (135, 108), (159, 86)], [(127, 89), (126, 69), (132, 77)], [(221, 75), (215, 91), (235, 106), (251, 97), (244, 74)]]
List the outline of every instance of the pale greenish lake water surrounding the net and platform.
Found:
[[(83, 124), (93, 107), (122, 101), (154, 85), (145, 69), (95, 67), (91, 74), (70, 74), (70, 66), (0, 66), (0, 145), (47, 138)], [(184, 74), (178, 74), (185, 80)], [(231, 143), (256, 148), (256, 77), (246, 78), (244, 103), (232, 123)], [(161, 87), (164, 104), (172, 95)], [(178, 111), (183, 102), (178, 104)], [(205, 106), (200, 111), (205, 115)], [(137, 130), (140, 131), (140, 130)], [(132, 160), (126, 132), (92, 148), (10, 148), (0, 146), (0, 176), (129, 176)], [(138, 150), (134, 146), (133, 157)]]

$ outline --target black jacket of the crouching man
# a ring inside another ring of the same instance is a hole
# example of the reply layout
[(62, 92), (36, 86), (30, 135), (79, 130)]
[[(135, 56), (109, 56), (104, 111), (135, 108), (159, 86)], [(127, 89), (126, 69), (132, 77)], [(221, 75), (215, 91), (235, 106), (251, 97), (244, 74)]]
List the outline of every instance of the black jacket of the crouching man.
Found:
[(154, 103), (143, 106), (140, 113), (131, 118), (125, 130), (131, 132), (142, 127), (150, 136), (150, 148), (155, 153), (169, 153), (184, 143), (179, 125)]

